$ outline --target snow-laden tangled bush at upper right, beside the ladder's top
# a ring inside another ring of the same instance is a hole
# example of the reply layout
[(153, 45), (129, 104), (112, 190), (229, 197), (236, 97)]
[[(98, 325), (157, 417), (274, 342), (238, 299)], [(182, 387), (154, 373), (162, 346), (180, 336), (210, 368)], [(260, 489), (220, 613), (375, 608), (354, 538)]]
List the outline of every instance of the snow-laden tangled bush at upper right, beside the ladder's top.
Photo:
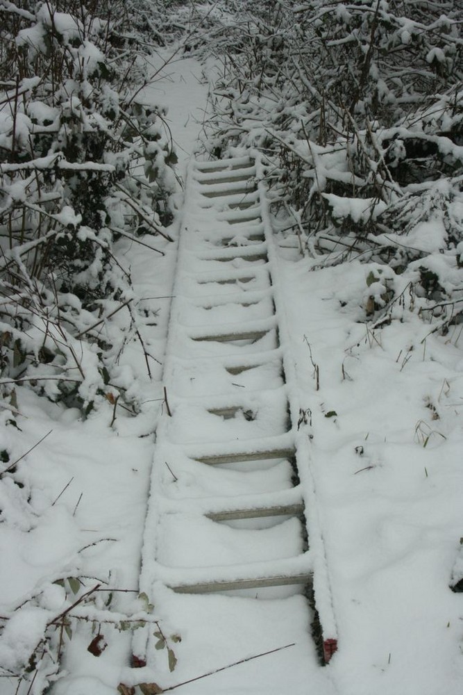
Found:
[[(451, 300), (461, 283), (441, 276), (460, 267), (463, 241), (454, 3), (239, 7), (235, 33), (226, 15), (216, 32), (225, 57), (210, 152), (239, 145), (264, 152), (273, 211), (319, 263), (358, 257), (400, 275), (410, 265), (419, 295), (432, 297), (432, 272), (441, 288), (434, 297)], [(436, 254), (446, 264), (435, 263)], [(416, 263), (427, 270), (414, 272)], [(394, 301), (392, 287), (387, 295)]]

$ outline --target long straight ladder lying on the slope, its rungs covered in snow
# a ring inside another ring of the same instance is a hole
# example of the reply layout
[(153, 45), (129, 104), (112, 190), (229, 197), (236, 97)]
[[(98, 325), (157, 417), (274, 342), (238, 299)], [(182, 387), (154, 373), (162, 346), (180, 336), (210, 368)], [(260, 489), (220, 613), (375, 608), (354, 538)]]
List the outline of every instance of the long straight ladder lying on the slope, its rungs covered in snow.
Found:
[[(155, 445), (140, 591), (151, 596), (155, 582), (181, 594), (232, 595), (302, 584), (314, 596), (328, 662), (337, 632), (310, 440), (297, 424), (300, 404), (263, 172), (256, 152), (190, 165), (165, 360), (168, 402)], [(274, 466), (283, 471), (280, 489), (267, 480)], [(233, 471), (233, 481), (239, 475), (243, 480), (236, 491), (233, 485), (214, 491), (214, 473), (212, 487), (202, 487), (208, 468)], [(262, 471), (262, 490), (246, 489), (249, 471), (253, 480)], [(182, 528), (187, 532), (201, 518), (217, 525), (218, 537), (221, 524), (230, 521), (273, 518), (278, 525), (292, 518), (298, 539), (289, 545), (298, 550), (288, 556), (282, 547), (281, 557), (277, 549), (276, 557), (272, 551), (255, 562), (241, 562), (239, 553), (237, 562), (224, 564), (213, 557), (197, 557), (194, 566), (172, 559), (175, 533), (181, 537)], [(146, 649), (146, 637), (136, 635), (137, 663), (146, 660)]]

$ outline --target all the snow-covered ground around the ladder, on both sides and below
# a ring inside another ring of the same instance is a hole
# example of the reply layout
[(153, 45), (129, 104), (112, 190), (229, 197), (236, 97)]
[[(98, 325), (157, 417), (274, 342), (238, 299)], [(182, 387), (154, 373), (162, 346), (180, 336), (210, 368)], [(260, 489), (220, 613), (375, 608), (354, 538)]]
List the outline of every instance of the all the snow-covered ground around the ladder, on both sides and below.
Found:
[[(163, 72), (164, 79), (146, 88), (145, 96), (169, 107), (167, 123), (179, 154), (178, 174), (184, 178), (202, 130), (207, 86), (194, 60), (172, 61)], [(173, 235), (180, 220), (188, 223), (189, 210), (181, 206), (179, 196)], [(159, 586), (155, 596), (149, 596), (155, 603), (153, 620), (162, 632), (182, 637), (173, 645), (176, 669), (169, 674), (165, 667), (160, 685), (175, 685), (296, 641), (178, 687), (178, 692), (458, 695), (463, 682), (463, 603), (462, 595), (453, 594), (448, 585), (463, 535), (460, 329), (457, 325), (444, 337), (430, 334), (423, 320), (405, 311), (402, 322), (369, 329), (359, 322), (359, 297), (368, 295), (367, 266), (353, 261), (311, 268), (315, 263), (301, 259), (293, 241), (278, 239), (274, 272), (291, 338), (285, 345), (287, 359), (294, 364), (298, 399), (313, 436), (310, 465), (339, 649), (328, 667), (314, 666), (302, 596), (272, 603), (253, 598), (237, 602), (228, 596), (193, 599)], [(146, 605), (137, 599), (138, 574), (155, 423), (165, 407), (162, 362), (176, 268), (176, 243), (160, 245), (157, 240), (157, 246), (165, 258), (129, 240), (118, 247), (119, 261), (131, 268), (135, 292), (147, 308), (158, 311), (157, 325), (146, 327), (143, 336), (148, 352), (159, 361), (152, 360), (153, 379), (146, 375), (139, 344), (129, 345), (120, 357), (121, 373), (140, 392), (140, 415), (124, 416), (108, 402), (82, 421), (78, 411), (64, 410), (19, 387), (17, 413), (12, 415), (8, 404), (1, 416), (2, 448), (11, 452), (11, 461), (20, 461), (14, 479), (5, 475), (0, 482), (0, 615), (11, 616), (0, 640), (0, 666), (6, 671), (14, 667), (37, 644), (44, 623), (73, 603), (74, 578), (85, 577), (88, 589), (101, 582), (107, 582), (101, 589), (112, 589), (110, 606), (110, 592), (101, 591), (95, 594), (94, 607), (82, 611), (80, 620), (72, 619), (72, 639), (63, 637), (65, 675), (53, 687), (54, 695), (115, 695), (119, 682), (130, 680), (132, 638), (120, 622), (119, 629), (104, 623), (107, 609), (116, 622), (122, 614), (149, 619)], [(221, 286), (214, 290), (218, 296)], [(264, 279), (258, 278), (255, 301), (265, 303), (266, 290)], [(196, 330), (213, 323), (214, 311), (208, 310), (206, 318), (205, 310), (196, 306), (182, 320)], [(210, 388), (210, 379), (217, 375), (208, 370), (208, 356), (202, 357), (196, 362), (197, 378)], [(278, 374), (271, 363), (267, 369), (273, 388)], [(175, 378), (183, 393), (178, 395), (186, 397), (188, 385), (180, 371)], [(242, 402), (253, 408), (252, 397)], [(197, 443), (207, 435), (214, 441), (221, 438), (220, 428), (233, 429), (233, 422), (226, 425), (211, 415), (206, 431), (201, 430), (201, 404), (198, 408), (198, 422), (185, 421), (178, 406), (170, 425), (173, 439)], [(280, 434), (280, 409), (276, 389), (266, 409), (248, 423), (249, 436), (268, 434), (269, 427)], [(12, 417), (19, 430), (6, 427)], [(187, 462), (180, 459), (178, 466), (187, 468)], [(215, 494), (223, 486), (221, 494), (227, 496), (236, 484), (233, 471), (225, 473), (225, 483), (224, 477), (214, 481), (213, 474), (209, 479)], [(251, 493), (258, 473), (249, 474)], [(287, 477), (284, 466), (272, 468), (266, 476), (269, 493), (288, 482)], [(201, 487), (193, 477), (190, 483)], [(262, 491), (260, 481), (258, 489)], [(263, 559), (273, 557), (271, 530), (266, 533)], [(179, 553), (188, 564), (200, 546), (212, 553), (208, 523), (196, 525), (194, 537), (183, 537), (180, 548), (172, 550), (169, 537), (178, 539), (178, 529), (166, 529), (164, 535), (165, 557), (170, 554), (173, 564)], [(252, 539), (250, 547), (257, 550)], [(220, 564), (234, 560), (227, 548), (224, 537), (223, 548), (214, 548), (208, 566), (219, 554)], [(53, 583), (62, 578), (71, 578), (71, 583)], [(40, 597), (38, 607), (28, 608), (31, 596)], [(235, 625), (233, 643), (221, 642), (224, 616), (229, 626)], [(99, 631), (108, 646), (95, 655), (87, 648)], [(16, 687), (17, 681), (5, 672), (0, 694), (13, 694)], [(34, 687), (39, 692), (40, 678)]]

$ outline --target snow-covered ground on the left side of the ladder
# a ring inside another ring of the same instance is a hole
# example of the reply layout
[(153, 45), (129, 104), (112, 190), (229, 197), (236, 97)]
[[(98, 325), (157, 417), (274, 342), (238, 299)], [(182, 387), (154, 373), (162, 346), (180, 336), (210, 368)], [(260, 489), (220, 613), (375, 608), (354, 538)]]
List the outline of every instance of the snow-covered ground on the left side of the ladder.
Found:
[[(164, 59), (153, 58), (147, 71), (158, 70)], [(169, 108), (166, 122), (175, 133), (180, 177), (196, 146), (207, 93), (201, 65), (194, 60), (177, 60), (158, 74), (143, 95), (146, 103)], [(176, 220), (169, 230), (173, 236), (178, 224)], [(147, 236), (145, 242), (153, 245), (152, 237)], [(8, 678), (8, 669), (33, 651), (44, 623), (55, 619), (83, 593), (73, 578), (85, 578), (87, 589), (100, 583), (102, 589), (117, 589), (112, 592), (112, 610), (134, 610), (131, 597), (136, 597), (138, 590), (176, 261), (175, 242), (156, 239), (155, 246), (165, 257), (130, 240), (120, 240), (117, 245), (119, 262), (131, 270), (135, 295), (156, 316), (154, 325), (142, 329), (146, 350), (152, 356), (153, 378), (147, 375), (140, 342), (129, 343), (115, 358), (120, 378), (127, 388), (137, 391), (140, 414), (134, 418), (108, 402), (83, 421), (77, 409), (64, 409), (22, 386), (16, 390), (17, 406), (3, 404), (1, 448), (10, 452), (8, 467), (20, 460), (14, 476), (6, 474), (0, 479), (0, 615), (11, 616), (0, 639), (1, 695), (17, 692), (17, 679)], [(12, 418), (16, 427), (6, 425)], [(28, 450), (31, 452), (24, 456)], [(71, 578), (72, 588), (67, 581), (65, 587), (53, 583), (62, 578)], [(106, 607), (109, 594), (96, 594), (97, 607)], [(27, 609), (26, 602), (33, 596), (38, 596), (40, 607)], [(17, 610), (19, 606), (22, 610)], [(96, 659), (87, 652), (94, 637), (92, 623), (74, 620), (71, 630), (72, 639), (64, 638), (62, 659), (69, 678), (60, 682), (58, 692), (76, 694), (83, 688), (98, 695), (106, 692), (105, 682), (117, 685), (121, 662), (126, 662), (131, 648), (129, 632), (107, 626), (104, 636), (108, 648)], [(95, 680), (88, 680), (90, 677)], [(24, 692), (27, 688), (28, 684)], [(40, 692), (39, 677), (35, 688)]]

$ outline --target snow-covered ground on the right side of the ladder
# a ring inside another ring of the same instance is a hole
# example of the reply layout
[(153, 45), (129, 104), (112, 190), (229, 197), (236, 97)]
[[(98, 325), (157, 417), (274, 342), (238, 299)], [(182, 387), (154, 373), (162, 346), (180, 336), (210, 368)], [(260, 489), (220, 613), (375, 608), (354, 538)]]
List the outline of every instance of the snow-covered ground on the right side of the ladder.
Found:
[(343, 695), (456, 695), (463, 605), (449, 583), (462, 535), (459, 327), (437, 337), (407, 315), (369, 331), (357, 322), (365, 266), (309, 265), (282, 250), (339, 631), (328, 670)]

